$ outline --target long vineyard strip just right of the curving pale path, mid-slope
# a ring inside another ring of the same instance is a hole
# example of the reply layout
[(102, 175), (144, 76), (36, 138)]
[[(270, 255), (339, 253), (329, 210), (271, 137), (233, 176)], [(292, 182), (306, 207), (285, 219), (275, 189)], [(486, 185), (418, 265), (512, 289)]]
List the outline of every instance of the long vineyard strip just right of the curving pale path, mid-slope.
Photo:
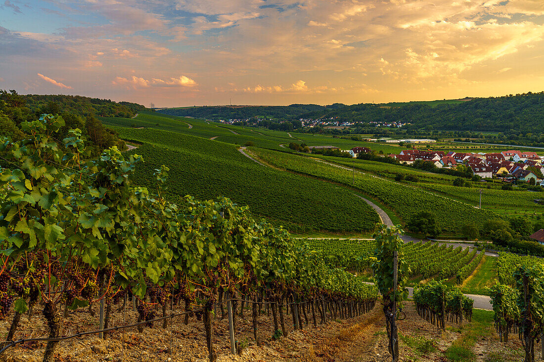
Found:
[(354, 174), (353, 171), (328, 165), (319, 160), (259, 148), (252, 148), (251, 153), (276, 167), (344, 185), (353, 184), (364, 194), (375, 197), (391, 207), (404, 221), (409, 220), (418, 211), (432, 210), (444, 233), (459, 232), (461, 225), (459, 215), (463, 215), (464, 222), (474, 224), (482, 224), (485, 220), (497, 217), (489, 210), (475, 209), (471, 205), (450, 198), (368, 174)]

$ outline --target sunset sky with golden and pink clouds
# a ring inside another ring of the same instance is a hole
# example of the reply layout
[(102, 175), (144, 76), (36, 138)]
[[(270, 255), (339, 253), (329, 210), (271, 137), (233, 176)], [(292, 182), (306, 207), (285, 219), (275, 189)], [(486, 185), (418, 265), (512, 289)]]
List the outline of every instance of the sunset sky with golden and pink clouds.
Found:
[(0, 89), (155, 107), (544, 90), (544, 0), (0, 0)]

